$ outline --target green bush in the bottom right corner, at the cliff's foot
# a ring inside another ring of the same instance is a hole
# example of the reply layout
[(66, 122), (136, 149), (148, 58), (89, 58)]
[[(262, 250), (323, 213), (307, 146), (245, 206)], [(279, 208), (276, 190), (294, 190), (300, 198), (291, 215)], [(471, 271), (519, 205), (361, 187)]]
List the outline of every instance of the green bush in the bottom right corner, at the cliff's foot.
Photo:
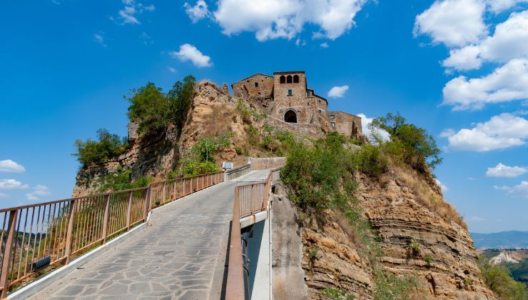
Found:
[(528, 299), (527, 287), (515, 281), (506, 266), (489, 264), (485, 255), (479, 257), (479, 268), (489, 289), (502, 299)]

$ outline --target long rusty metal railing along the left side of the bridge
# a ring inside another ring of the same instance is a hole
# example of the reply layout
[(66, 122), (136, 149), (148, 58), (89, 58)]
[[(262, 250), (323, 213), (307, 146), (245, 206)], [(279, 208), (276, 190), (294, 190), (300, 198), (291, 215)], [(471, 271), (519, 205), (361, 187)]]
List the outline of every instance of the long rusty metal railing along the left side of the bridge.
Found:
[[(0, 209), (0, 290), (34, 279), (146, 221), (148, 212), (223, 182), (223, 171), (113, 191)], [(49, 271), (49, 269), (46, 269)]]

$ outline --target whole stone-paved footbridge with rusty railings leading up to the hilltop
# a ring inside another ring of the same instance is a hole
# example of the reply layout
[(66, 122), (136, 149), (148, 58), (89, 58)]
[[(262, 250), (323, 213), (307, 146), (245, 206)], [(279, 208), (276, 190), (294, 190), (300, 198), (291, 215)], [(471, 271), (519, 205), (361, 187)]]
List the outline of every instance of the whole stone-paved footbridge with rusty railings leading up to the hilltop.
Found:
[(1, 296), (270, 299), (272, 165), (2, 209)]

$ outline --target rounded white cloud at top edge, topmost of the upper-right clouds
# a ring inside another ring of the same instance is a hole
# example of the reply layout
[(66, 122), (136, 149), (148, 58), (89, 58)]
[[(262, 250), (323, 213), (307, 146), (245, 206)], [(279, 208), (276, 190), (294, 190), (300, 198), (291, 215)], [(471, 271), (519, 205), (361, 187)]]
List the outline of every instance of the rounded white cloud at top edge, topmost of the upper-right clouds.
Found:
[(480, 0), (435, 1), (416, 16), (413, 34), (428, 35), (433, 43), (464, 46), (487, 35), (482, 14), (486, 5)]

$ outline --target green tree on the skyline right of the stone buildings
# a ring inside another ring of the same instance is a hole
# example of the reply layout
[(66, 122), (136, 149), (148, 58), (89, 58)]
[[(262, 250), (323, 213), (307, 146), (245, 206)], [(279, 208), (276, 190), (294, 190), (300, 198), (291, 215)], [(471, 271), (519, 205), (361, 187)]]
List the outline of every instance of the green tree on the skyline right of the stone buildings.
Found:
[[(390, 134), (390, 142), (387, 142), (387, 151), (390, 154), (399, 156), (402, 161), (410, 164), (417, 171), (426, 172), (428, 168), (435, 169), (435, 166), (442, 162), (440, 149), (435, 139), (427, 134), (425, 129), (414, 124), (409, 124), (400, 113), (387, 114), (374, 119), (370, 128), (373, 131), (385, 130)], [(384, 144), (378, 139), (378, 144)]]

